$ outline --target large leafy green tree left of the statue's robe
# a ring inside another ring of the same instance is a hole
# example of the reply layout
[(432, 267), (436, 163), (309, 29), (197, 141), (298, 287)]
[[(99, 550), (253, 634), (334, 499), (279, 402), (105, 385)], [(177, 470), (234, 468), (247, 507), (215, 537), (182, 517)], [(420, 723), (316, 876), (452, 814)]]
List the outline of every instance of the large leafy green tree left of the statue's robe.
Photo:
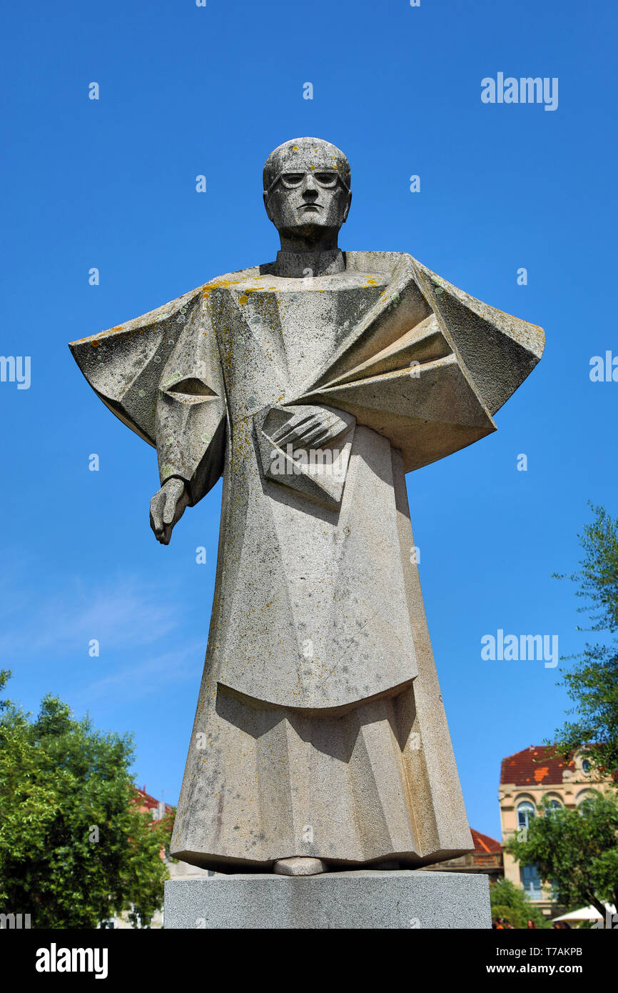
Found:
[[(10, 672), (0, 673), (0, 690)], [(167, 829), (135, 802), (130, 735), (75, 721), (46, 696), (36, 720), (0, 702), (0, 910), (33, 927), (96, 927), (163, 903)]]

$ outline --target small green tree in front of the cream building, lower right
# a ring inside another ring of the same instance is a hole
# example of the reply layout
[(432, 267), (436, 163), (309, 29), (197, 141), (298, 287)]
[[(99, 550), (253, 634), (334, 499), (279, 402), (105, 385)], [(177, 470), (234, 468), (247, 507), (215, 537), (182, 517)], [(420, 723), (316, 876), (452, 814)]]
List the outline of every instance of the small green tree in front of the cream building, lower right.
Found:
[(526, 840), (511, 838), (506, 850), (525, 865), (536, 865), (551, 883), (557, 904), (574, 910), (592, 904), (605, 916), (604, 903), (618, 901), (618, 800), (592, 790), (577, 809), (551, 807), (535, 817)]

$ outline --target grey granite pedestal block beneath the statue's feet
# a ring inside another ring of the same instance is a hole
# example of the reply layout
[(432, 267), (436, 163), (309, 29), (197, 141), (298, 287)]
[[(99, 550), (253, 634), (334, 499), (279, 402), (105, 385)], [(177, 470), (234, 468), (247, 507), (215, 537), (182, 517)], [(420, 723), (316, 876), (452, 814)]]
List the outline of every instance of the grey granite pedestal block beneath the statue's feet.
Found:
[(166, 883), (164, 926), (485, 928), (491, 927), (489, 881), (427, 870), (176, 879)]

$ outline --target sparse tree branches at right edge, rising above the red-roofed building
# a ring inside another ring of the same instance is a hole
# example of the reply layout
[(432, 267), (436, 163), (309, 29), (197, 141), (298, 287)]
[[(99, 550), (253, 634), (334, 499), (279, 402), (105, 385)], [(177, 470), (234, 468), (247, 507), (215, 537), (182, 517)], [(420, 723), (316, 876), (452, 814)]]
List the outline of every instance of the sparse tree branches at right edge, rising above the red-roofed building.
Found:
[(589, 614), (590, 627), (578, 630), (603, 632), (605, 641), (586, 643), (582, 652), (568, 656), (575, 663), (558, 685), (574, 703), (567, 711), (574, 718), (546, 744), (564, 761), (585, 749), (593, 768), (618, 781), (618, 640), (608, 643), (618, 631), (618, 519), (590, 505), (594, 519), (578, 536), (584, 557), (567, 578), (578, 586), (575, 595), (587, 601), (578, 611)]

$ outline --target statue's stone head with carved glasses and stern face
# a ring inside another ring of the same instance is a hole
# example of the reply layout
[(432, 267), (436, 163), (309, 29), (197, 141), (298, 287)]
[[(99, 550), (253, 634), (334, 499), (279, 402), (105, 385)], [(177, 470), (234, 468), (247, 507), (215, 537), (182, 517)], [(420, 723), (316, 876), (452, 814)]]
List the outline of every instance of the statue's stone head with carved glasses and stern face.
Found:
[(351, 200), (349, 162), (328, 141), (293, 138), (266, 160), (264, 205), (282, 248), (336, 248)]

